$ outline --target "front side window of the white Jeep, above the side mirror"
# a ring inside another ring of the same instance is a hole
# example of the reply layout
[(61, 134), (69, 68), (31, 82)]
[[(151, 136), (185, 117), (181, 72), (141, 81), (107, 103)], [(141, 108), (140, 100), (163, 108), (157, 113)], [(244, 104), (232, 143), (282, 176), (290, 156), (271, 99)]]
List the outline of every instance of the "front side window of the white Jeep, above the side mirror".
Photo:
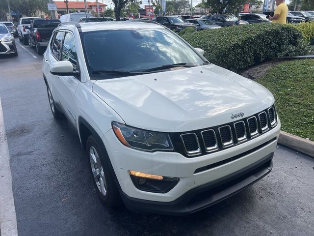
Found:
[(77, 70), (77, 49), (71, 33), (66, 33), (64, 37), (61, 60), (68, 60), (73, 64), (73, 69)]

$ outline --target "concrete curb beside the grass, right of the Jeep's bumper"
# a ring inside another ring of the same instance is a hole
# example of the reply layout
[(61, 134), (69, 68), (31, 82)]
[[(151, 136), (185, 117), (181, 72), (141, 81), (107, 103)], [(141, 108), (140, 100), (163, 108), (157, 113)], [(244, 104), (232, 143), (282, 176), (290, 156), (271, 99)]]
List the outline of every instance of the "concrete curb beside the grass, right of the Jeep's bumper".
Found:
[(280, 131), (278, 143), (314, 157), (314, 142)]

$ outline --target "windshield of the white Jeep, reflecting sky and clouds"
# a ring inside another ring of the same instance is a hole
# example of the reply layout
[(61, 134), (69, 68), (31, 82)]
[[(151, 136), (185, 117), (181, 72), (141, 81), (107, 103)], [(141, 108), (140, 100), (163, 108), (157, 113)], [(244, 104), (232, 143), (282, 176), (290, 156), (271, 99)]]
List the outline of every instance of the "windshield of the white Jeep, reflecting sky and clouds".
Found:
[(114, 77), (95, 75), (93, 71), (143, 72), (169, 64), (198, 66), (205, 62), (166, 29), (91, 31), (82, 33), (81, 37), (89, 74), (99, 79)]

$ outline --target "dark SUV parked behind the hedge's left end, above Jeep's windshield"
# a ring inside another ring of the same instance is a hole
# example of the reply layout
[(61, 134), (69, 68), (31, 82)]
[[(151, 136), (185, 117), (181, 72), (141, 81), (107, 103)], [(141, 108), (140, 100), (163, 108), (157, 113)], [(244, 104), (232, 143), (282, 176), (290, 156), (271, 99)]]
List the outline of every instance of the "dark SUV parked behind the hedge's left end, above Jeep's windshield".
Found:
[(176, 32), (180, 32), (186, 27), (195, 28), (194, 24), (185, 22), (184, 19), (179, 16), (157, 16), (155, 21), (171, 30), (175, 30)]

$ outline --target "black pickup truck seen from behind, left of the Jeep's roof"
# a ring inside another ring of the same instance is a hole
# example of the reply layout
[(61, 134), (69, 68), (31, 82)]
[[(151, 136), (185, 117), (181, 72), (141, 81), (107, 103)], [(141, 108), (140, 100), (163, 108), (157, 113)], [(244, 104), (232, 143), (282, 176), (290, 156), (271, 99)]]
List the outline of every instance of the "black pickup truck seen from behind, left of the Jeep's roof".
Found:
[(59, 20), (34, 19), (30, 23), (28, 31), (29, 47), (36, 48), (38, 54), (43, 54), (48, 46), (53, 29), (57, 28), (60, 23)]

